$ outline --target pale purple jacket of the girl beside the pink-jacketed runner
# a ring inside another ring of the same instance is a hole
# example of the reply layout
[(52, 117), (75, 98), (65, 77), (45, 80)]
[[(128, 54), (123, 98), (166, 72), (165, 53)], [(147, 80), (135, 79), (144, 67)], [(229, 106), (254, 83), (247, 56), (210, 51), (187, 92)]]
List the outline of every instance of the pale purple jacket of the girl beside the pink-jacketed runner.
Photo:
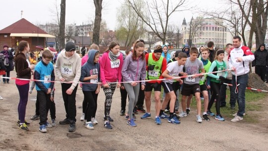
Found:
[[(138, 58), (138, 60), (132, 59), (132, 54), (128, 55), (124, 61), (122, 67), (123, 81), (137, 81), (141, 77), (141, 80), (145, 80), (146, 77), (146, 61)], [(145, 82), (141, 82), (145, 85)]]

